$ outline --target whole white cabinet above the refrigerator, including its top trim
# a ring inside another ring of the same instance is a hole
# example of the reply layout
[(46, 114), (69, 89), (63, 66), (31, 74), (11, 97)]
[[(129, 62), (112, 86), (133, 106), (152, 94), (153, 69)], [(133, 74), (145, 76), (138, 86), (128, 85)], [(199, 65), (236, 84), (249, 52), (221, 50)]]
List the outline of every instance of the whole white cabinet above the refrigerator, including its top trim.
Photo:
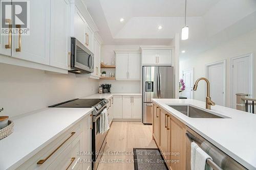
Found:
[(171, 65), (173, 66), (174, 47), (172, 46), (141, 46), (142, 65)]

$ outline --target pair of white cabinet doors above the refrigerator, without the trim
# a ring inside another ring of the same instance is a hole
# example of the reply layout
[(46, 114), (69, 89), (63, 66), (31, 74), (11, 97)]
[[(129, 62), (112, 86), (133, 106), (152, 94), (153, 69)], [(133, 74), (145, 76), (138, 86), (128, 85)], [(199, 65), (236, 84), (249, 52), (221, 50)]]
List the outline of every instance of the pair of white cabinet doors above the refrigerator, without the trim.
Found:
[(172, 50), (142, 50), (143, 65), (172, 65)]

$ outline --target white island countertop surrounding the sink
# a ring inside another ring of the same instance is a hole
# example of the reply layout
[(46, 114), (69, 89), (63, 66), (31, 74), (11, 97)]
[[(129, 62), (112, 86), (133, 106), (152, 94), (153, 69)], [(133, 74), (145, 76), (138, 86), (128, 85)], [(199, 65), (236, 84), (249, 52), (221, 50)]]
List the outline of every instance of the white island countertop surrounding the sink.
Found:
[(190, 105), (205, 109), (205, 102), (192, 99), (152, 99), (186, 126), (216, 145), (248, 169), (256, 169), (256, 115), (212, 106), (211, 112), (230, 118), (190, 118), (168, 105)]

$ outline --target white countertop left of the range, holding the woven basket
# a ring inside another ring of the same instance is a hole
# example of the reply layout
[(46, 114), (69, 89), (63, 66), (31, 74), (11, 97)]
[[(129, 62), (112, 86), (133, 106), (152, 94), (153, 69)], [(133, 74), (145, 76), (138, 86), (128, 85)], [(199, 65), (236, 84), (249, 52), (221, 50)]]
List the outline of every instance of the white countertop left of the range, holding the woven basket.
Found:
[(14, 119), (13, 133), (0, 140), (0, 169), (17, 168), (92, 110), (47, 108)]

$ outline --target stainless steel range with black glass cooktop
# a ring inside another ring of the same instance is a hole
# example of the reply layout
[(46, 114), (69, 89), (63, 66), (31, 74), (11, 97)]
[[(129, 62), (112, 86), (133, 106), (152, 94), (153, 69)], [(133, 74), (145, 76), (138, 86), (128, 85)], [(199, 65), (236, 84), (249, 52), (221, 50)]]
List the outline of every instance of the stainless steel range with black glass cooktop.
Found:
[(73, 99), (49, 107), (66, 108), (94, 108), (92, 112), (92, 169), (97, 169), (98, 161), (103, 154), (106, 145), (106, 133), (99, 133), (99, 120), (102, 111), (107, 107), (109, 101), (106, 99)]

